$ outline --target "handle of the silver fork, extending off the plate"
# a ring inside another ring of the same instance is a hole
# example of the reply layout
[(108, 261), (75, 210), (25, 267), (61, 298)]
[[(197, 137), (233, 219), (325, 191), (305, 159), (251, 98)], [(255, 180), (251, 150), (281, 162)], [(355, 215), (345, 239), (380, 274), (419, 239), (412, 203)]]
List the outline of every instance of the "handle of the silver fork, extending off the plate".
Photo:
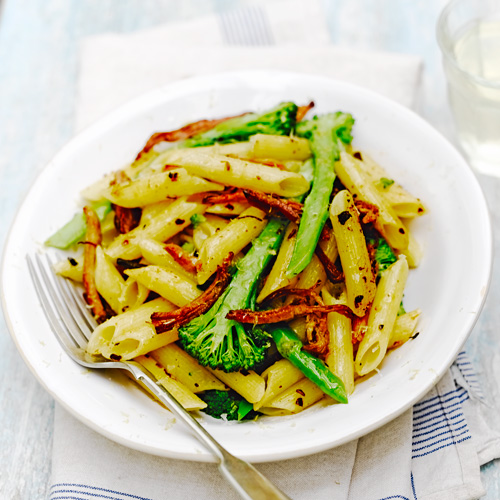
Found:
[(231, 455), (205, 428), (187, 412), (163, 386), (154, 382), (144, 367), (128, 362), (126, 366), (135, 379), (145, 385), (177, 418), (182, 420), (193, 434), (217, 459), (219, 470), (233, 488), (247, 500), (290, 500), (269, 479), (244, 460)]

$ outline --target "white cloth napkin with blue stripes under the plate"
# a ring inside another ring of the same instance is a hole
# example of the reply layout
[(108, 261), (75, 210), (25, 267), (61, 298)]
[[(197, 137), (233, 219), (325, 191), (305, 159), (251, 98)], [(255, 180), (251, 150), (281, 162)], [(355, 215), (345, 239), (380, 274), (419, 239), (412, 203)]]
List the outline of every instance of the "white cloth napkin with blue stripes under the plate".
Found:
[[(323, 74), (414, 105), (418, 58), (328, 46), (323, 19), (316, 0), (291, 0), (132, 35), (89, 38), (81, 53), (77, 128), (150, 88), (228, 69)], [(296, 500), (478, 498), (479, 464), (500, 456), (498, 409), (479, 387), (462, 353), (421, 402), (383, 428), (330, 451), (257, 468)], [(127, 449), (56, 405), (50, 499), (66, 498), (238, 496), (214, 464)]]

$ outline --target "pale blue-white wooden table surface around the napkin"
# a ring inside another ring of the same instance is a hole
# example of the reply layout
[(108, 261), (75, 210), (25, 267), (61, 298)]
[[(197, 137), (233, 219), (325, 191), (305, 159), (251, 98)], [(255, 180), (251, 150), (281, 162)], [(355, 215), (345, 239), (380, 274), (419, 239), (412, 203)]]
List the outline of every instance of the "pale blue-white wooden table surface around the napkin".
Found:
[[(277, 1), (277, 0), (276, 0)], [(73, 134), (82, 38), (190, 19), (251, 0), (0, 0), (0, 242), (36, 173)], [(263, 3), (263, 2), (262, 2)], [(425, 62), (419, 112), (453, 140), (435, 24), (444, 0), (324, 0), (332, 43), (416, 54)], [(499, 248), (500, 180), (480, 179)], [(500, 359), (500, 270), (468, 351), (485, 392)], [(26, 311), (29, 314), (29, 310)], [(30, 373), (0, 319), (0, 498), (47, 497), (54, 401)], [(496, 387), (496, 389), (495, 389)], [(484, 498), (500, 498), (500, 462), (482, 468)]]

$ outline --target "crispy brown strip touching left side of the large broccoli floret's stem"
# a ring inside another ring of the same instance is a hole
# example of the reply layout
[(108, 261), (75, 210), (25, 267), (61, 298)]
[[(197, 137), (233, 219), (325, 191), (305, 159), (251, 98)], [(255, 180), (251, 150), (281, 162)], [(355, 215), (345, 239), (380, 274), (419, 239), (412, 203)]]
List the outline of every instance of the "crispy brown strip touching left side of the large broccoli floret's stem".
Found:
[(206, 313), (224, 293), (224, 290), (231, 281), (231, 275), (228, 268), (233, 260), (233, 254), (230, 253), (222, 263), (217, 267), (217, 272), (213, 283), (190, 304), (170, 312), (157, 312), (151, 315), (151, 321), (155, 327), (156, 333), (163, 333), (173, 328), (179, 328), (189, 323), (194, 318)]

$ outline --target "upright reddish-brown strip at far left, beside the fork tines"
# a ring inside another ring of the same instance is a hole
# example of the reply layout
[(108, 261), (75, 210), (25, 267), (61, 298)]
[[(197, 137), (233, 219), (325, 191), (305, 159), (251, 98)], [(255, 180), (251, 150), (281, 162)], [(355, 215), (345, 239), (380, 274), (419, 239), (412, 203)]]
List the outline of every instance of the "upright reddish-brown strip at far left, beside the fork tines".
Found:
[(88, 206), (83, 207), (87, 219), (87, 234), (84, 241), (83, 253), (83, 287), (85, 300), (92, 309), (92, 314), (98, 323), (107, 319), (107, 314), (101, 297), (95, 286), (95, 247), (101, 244), (101, 224), (94, 210)]

